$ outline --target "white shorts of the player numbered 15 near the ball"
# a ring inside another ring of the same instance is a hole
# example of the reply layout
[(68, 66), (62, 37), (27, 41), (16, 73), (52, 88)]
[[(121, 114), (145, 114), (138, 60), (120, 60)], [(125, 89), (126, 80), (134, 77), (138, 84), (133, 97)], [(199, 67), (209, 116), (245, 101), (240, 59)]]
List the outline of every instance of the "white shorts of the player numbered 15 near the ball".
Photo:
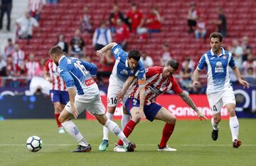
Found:
[[(105, 114), (105, 107), (102, 104), (100, 94), (97, 95), (75, 95), (75, 106), (78, 109), (78, 115), (81, 114), (83, 111), (87, 110), (90, 114), (94, 115), (102, 115)], [(68, 104), (65, 105), (65, 109), (70, 113), (73, 114), (73, 111), (70, 106), (70, 101)]]

